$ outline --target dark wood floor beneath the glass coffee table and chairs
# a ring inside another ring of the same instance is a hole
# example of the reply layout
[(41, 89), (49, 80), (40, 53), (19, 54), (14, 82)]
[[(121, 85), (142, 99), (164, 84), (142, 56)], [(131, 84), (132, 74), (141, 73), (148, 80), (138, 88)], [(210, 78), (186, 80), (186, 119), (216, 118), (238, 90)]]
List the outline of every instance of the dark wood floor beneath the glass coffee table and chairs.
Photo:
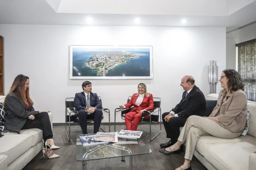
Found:
[[(153, 125), (152, 133), (156, 134), (160, 125)], [(88, 126), (88, 132), (92, 133), (93, 126)], [(108, 131), (108, 126), (103, 126)], [(116, 126), (116, 131), (125, 126)], [(80, 170), (82, 163), (75, 160), (75, 147), (76, 147), (76, 135), (81, 134), (80, 126), (72, 126), (71, 140), (68, 142), (65, 127), (54, 126), (53, 127), (53, 139), (55, 144), (61, 148), (55, 151), (60, 155), (59, 158), (49, 159), (43, 158), (40, 152), (23, 170)], [(111, 130), (114, 131), (114, 126), (111, 126)], [(184, 152), (181, 154), (175, 154), (166, 156), (159, 152), (159, 144), (166, 142), (166, 133), (162, 126), (162, 132), (153, 141), (149, 140), (149, 125), (139, 125), (138, 130), (143, 131), (141, 139), (152, 150), (152, 153), (140, 156), (133, 156), (133, 169), (134, 170), (171, 170), (180, 166), (184, 162)], [(126, 158), (126, 162), (121, 162), (121, 158), (101, 159), (87, 162), (87, 170), (128, 170), (129, 159)], [(191, 162), (193, 170), (206, 170), (206, 168), (199, 162), (197, 158), (193, 158)]]

